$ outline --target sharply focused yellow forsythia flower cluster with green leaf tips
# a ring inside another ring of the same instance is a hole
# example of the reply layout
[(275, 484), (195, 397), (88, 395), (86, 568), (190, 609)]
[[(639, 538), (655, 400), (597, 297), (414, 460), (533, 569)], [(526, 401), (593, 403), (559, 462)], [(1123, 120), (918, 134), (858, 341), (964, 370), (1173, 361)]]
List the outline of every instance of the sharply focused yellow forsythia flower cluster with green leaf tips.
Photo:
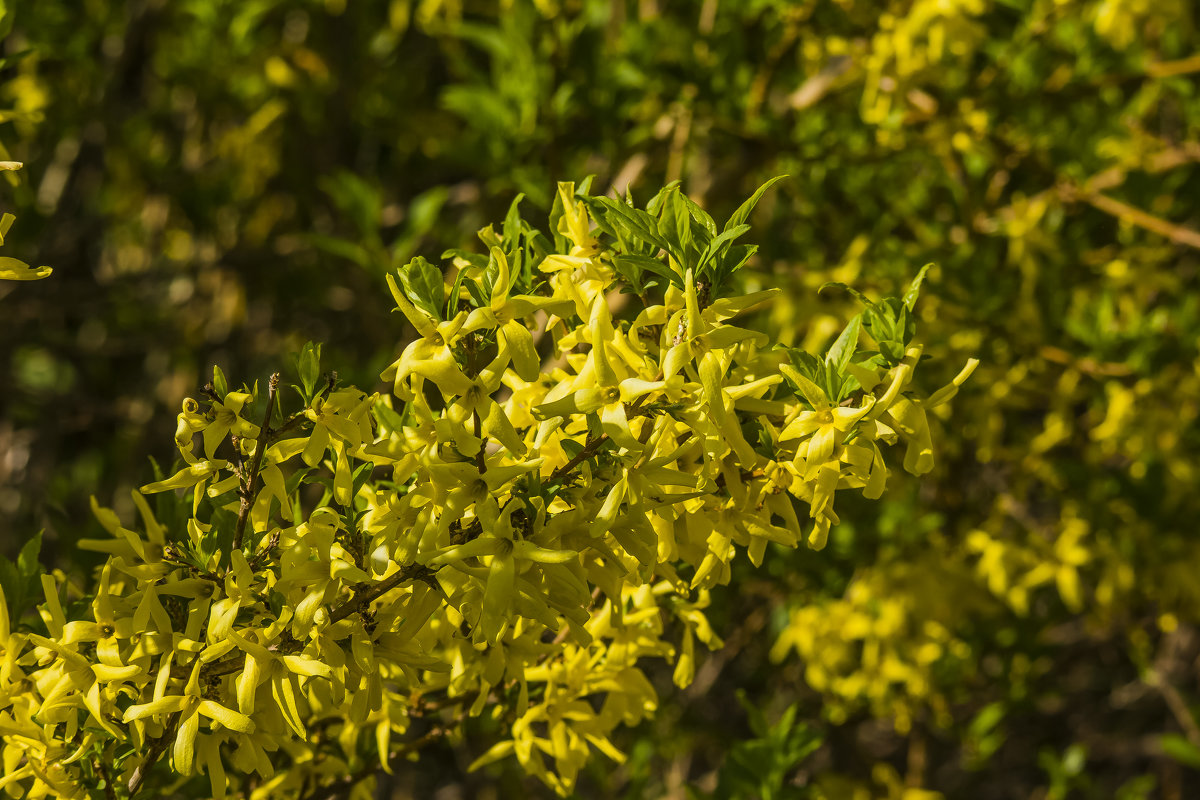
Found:
[[(612, 732), (658, 704), (644, 660), (686, 686), (697, 640), (721, 646), (706, 608), (737, 552), (821, 549), (839, 489), (883, 493), (892, 446), (926, 473), (928, 413), (976, 365), (916, 389), (924, 270), (899, 299), (854, 293), (821, 357), (734, 324), (778, 294), (736, 275), (768, 186), (724, 225), (673, 184), (644, 209), (559, 184), (548, 234), (518, 198), (485, 253), (388, 276), (415, 330), (391, 396), (312, 345), (292, 387), (215, 369), (138, 523), (92, 500), (92, 585), (23, 557), (44, 603), (30, 625), (0, 606), (0, 787), (366, 798), (484, 714), (504, 735), (473, 769), (514, 757), (565, 795), (593, 751), (622, 760)], [(918, 670), (955, 646), (923, 630)]]

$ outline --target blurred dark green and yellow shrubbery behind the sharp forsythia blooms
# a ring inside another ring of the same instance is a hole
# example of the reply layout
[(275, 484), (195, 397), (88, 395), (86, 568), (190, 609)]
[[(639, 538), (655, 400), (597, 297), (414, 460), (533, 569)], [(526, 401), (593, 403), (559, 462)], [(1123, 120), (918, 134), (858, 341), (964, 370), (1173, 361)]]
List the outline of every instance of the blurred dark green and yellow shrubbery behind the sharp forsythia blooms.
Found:
[[(364, 389), (383, 276), (556, 180), (756, 211), (760, 325), (918, 311), (936, 470), (738, 565), (726, 646), (581, 798), (1200, 796), (1200, 34), (1193, 0), (10, 0), (0, 535), (67, 572), (217, 363), (308, 339)], [(380, 796), (467, 775), (488, 723)]]

